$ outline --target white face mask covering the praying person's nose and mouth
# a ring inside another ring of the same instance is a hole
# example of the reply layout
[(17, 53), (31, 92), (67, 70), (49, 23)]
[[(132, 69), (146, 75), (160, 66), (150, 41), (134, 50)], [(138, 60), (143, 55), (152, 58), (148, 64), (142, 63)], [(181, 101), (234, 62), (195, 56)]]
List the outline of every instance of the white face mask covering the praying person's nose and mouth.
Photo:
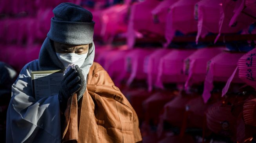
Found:
[(78, 65), (79, 68), (84, 63), (87, 53), (78, 55), (76, 53), (56, 53), (57, 57), (59, 58), (60, 62), (67, 68), (69, 65)]

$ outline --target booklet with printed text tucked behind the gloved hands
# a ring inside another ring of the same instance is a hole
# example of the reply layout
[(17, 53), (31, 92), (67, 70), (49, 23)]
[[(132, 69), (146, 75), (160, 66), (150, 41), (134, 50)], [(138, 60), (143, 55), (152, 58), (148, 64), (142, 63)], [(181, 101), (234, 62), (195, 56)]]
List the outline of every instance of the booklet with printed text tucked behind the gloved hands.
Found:
[(31, 71), (35, 99), (58, 94), (63, 75), (64, 70)]

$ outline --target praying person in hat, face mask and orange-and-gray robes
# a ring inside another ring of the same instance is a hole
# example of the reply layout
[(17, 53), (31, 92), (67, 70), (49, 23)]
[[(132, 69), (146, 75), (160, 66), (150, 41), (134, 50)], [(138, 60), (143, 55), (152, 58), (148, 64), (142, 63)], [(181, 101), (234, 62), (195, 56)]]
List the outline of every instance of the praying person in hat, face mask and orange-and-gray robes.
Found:
[[(133, 107), (94, 62), (92, 13), (72, 3), (58, 5), (53, 13), (39, 58), (26, 64), (12, 85), (6, 142), (141, 142)], [(36, 100), (31, 71), (68, 67), (58, 94)]]

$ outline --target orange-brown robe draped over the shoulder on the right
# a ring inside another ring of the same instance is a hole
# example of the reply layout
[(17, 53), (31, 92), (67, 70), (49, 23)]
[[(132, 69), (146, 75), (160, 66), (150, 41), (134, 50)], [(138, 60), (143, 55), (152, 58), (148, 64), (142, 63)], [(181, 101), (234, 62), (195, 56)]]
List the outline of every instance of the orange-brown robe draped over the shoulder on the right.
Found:
[(79, 103), (76, 94), (69, 98), (63, 127), (62, 142), (142, 141), (137, 114), (98, 63), (91, 66), (87, 89)]

